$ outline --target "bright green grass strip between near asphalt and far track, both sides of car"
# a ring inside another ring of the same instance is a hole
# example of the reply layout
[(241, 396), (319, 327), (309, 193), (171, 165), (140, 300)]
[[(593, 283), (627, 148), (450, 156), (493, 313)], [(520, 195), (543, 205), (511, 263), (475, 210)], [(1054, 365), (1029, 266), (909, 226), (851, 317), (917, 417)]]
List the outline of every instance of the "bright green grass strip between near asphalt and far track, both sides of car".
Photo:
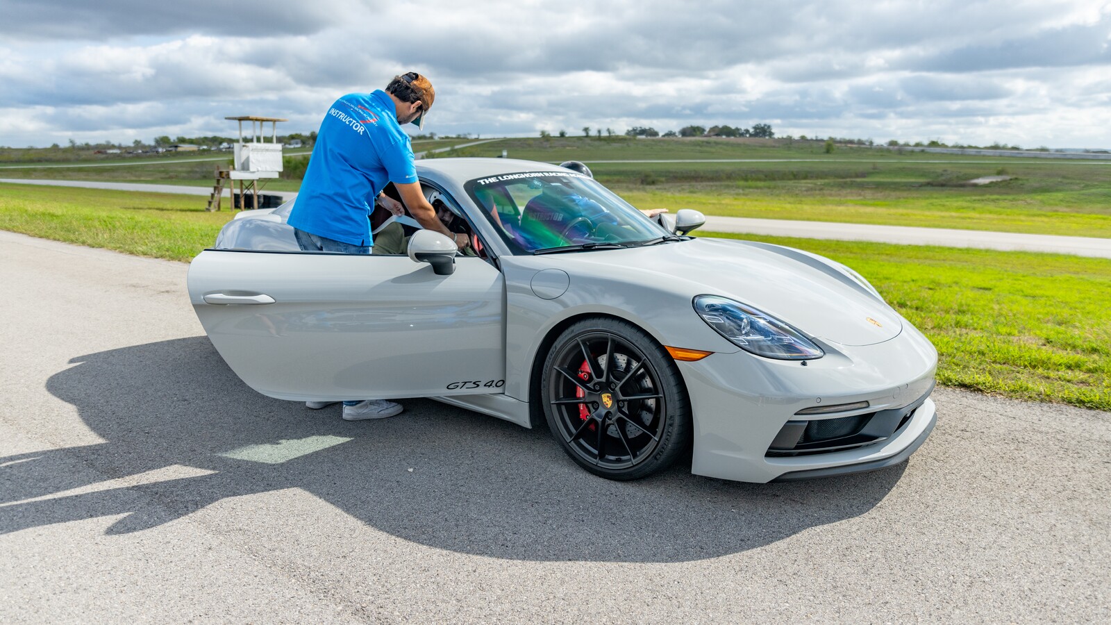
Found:
[[(231, 211), (199, 198), (0, 186), (0, 229), (188, 261)], [(711, 235), (707, 235), (711, 236)], [(938, 347), (941, 384), (1111, 410), (1111, 261), (740, 235), (868, 277)]]

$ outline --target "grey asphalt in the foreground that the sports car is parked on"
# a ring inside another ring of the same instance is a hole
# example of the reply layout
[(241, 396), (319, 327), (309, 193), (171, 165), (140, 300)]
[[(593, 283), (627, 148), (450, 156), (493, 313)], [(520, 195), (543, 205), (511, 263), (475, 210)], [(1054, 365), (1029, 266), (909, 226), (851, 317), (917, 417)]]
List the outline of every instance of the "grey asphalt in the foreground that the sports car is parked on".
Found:
[(0, 231), (0, 622), (1111, 621), (1107, 413), (939, 389), (882, 472), (613, 483), (257, 395), (186, 269)]

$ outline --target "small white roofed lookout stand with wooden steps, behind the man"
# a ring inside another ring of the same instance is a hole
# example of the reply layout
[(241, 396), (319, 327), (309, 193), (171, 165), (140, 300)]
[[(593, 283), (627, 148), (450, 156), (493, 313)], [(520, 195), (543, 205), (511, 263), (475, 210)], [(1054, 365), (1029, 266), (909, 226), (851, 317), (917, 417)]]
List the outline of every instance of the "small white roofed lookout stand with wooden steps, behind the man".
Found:
[[(278, 142), (278, 122), (288, 121), (277, 117), (226, 117), (239, 122), (239, 141), (231, 168), (217, 166), (216, 183), (209, 197), (207, 210), (220, 210), (220, 198), (224, 185), (234, 195), (236, 181), (239, 181), (239, 208), (247, 208), (247, 195), (251, 191), (251, 208), (259, 208), (259, 180), (278, 178), (282, 170), (281, 143)], [(250, 135), (243, 137), (243, 122), (251, 122)], [(270, 141), (266, 140), (266, 123), (270, 122)], [(234, 198), (231, 202), (234, 208)]]

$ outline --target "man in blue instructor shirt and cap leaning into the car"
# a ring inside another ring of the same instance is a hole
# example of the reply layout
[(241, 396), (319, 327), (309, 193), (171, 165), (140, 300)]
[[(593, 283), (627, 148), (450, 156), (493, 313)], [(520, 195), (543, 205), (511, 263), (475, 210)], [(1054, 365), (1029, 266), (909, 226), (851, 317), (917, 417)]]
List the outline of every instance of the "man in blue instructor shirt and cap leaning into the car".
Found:
[[(460, 249), (466, 235), (456, 235), (437, 218), (424, 199), (406, 123), (423, 128), (436, 90), (423, 76), (411, 71), (394, 77), (372, 93), (348, 93), (329, 108), (317, 133), (309, 169), (304, 172), (288, 222), (304, 251), (370, 254), (371, 207), (377, 201), (394, 215), (401, 206), (381, 195), (389, 182), (401, 195), (409, 212), (422, 227), (443, 234)], [(334, 401), (309, 401), (323, 408)], [(401, 405), (384, 399), (344, 401), (348, 420), (391, 417)]]

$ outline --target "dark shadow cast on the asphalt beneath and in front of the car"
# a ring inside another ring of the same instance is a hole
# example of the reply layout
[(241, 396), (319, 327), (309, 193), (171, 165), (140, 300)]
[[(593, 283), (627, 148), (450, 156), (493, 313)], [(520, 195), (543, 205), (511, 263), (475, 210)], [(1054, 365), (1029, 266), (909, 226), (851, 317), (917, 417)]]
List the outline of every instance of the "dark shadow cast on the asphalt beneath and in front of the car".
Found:
[[(243, 385), (207, 337), (72, 363), (47, 388), (107, 442), (0, 458), (0, 533), (110, 515), (123, 516), (109, 534), (139, 532), (228, 497), (296, 487), (442, 549), (683, 562), (864, 514), (905, 466), (768, 485), (703, 478), (688, 466), (618, 483), (580, 469), (547, 430), (428, 399), (359, 423), (340, 419), (337, 407), (270, 399)], [(174, 467), (193, 469), (177, 476)], [(148, 472), (170, 478), (144, 482)], [(137, 484), (102, 485), (129, 476)]]

